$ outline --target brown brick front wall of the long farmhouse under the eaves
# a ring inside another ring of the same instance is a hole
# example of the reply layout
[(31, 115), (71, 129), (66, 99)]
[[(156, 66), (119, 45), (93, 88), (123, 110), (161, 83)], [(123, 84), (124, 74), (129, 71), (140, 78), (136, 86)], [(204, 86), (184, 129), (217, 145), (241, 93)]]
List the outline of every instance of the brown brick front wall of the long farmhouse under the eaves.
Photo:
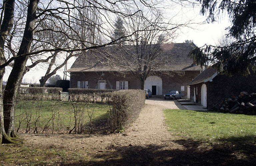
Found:
[[(162, 79), (162, 94), (168, 93), (169, 90), (181, 90), (181, 86), (184, 86), (184, 93), (187, 96), (186, 84), (192, 81), (200, 71), (185, 71), (184, 76), (175, 74), (173, 77), (159, 74)], [(125, 75), (118, 74), (116, 72), (104, 72), (104, 76), (101, 76), (100, 72), (72, 72), (70, 76), (71, 88), (77, 88), (77, 81), (88, 81), (89, 88), (98, 88), (99, 80), (106, 80), (106, 89), (116, 89), (116, 81), (128, 81), (128, 89), (140, 89), (140, 81), (137, 77), (127, 72)]]

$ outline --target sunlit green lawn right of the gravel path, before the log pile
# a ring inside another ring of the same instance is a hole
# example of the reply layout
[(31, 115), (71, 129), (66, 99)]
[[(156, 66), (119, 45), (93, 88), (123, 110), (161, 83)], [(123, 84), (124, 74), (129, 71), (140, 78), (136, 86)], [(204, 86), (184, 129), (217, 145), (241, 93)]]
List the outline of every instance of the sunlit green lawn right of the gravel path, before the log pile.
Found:
[(256, 142), (256, 116), (208, 111), (164, 110), (168, 130), (185, 139), (214, 142)]

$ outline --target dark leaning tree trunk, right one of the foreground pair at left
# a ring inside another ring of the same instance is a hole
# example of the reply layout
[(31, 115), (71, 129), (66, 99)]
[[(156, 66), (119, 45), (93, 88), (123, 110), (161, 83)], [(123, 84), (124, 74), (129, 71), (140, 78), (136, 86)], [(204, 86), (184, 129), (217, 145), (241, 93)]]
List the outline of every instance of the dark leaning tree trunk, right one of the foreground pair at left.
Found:
[(24, 29), (20, 49), (17, 54), (17, 56), (21, 57), (14, 60), (14, 65), (5, 87), (3, 99), (4, 129), (7, 135), (11, 137), (16, 137), (16, 133), (14, 131), (14, 106), (16, 100), (16, 93), (19, 86), (19, 81), (20, 79), (22, 79), (22, 74), (24, 72), (26, 62), (28, 60), (28, 56), (22, 55), (29, 52), (31, 42), (33, 40), (38, 2), (39, 0), (29, 1), (26, 26)]

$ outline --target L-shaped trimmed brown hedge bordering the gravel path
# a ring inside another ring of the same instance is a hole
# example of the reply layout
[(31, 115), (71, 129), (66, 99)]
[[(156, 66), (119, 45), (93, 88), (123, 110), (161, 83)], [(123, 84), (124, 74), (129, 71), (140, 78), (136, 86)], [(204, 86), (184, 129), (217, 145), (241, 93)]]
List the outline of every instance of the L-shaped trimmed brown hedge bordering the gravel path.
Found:
[(121, 131), (136, 120), (144, 103), (144, 90), (99, 90), (99, 89), (69, 89), (70, 101), (91, 102), (105, 101), (109, 104), (109, 122), (111, 132)]

